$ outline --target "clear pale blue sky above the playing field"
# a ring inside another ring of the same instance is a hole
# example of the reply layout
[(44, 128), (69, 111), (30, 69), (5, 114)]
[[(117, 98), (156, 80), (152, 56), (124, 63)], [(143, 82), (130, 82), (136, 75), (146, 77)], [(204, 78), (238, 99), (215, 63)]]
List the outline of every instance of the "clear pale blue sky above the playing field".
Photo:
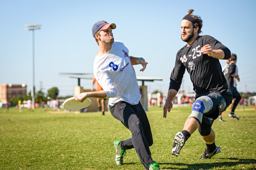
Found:
[[(185, 45), (180, 39), (180, 22), (194, 9), (203, 20), (200, 35), (211, 35), (237, 54), (240, 76), (237, 90), (256, 91), (255, 78), (256, 1), (0, 1), (0, 84), (26, 83), (32, 86), (32, 32), (26, 24), (42, 24), (35, 31), (35, 86), (46, 92), (58, 87), (60, 96), (72, 95), (77, 80), (59, 73), (92, 73), (98, 45), (92, 25), (100, 20), (115, 23), (114, 38), (143, 57), (148, 66), (137, 76), (161, 77), (146, 82), (148, 91), (167, 92), (177, 51)], [(224, 60), (220, 60), (222, 66)], [(40, 83), (41, 82), (41, 83)], [(84, 89), (92, 80), (81, 80)], [(40, 85), (41, 84), (41, 85)], [(141, 82), (139, 82), (141, 85)], [(181, 89), (193, 91), (188, 73)]]

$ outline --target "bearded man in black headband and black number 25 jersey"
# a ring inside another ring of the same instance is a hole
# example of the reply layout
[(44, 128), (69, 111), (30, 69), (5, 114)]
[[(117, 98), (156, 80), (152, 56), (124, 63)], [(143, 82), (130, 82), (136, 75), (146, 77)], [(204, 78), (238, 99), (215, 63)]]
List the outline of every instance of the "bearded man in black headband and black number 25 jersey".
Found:
[(172, 154), (178, 156), (190, 135), (198, 129), (207, 147), (200, 159), (208, 159), (220, 152), (220, 147), (214, 142), (212, 123), (232, 102), (232, 94), (227, 92), (228, 84), (219, 62), (219, 59), (230, 58), (230, 51), (211, 36), (199, 36), (203, 21), (199, 16), (192, 15), (193, 11), (189, 10), (189, 14), (181, 20), (181, 39), (187, 45), (176, 55), (164, 105), (164, 117), (172, 109), (172, 100), (180, 89), (187, 69), (196, 92), (196, 100), (182, 132), (174, 137)]

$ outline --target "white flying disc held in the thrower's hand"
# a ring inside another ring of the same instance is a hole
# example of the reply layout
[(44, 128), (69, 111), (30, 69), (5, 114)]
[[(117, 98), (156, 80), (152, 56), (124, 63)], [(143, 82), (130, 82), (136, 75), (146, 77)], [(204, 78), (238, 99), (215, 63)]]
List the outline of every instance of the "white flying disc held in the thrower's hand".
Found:
[(66, 99), (63, 103), (63, 107), (67, 110), (79, 110), (88, 107), (92, 101), (86, 98), (83, 102), (75, 100), (75, 97)]

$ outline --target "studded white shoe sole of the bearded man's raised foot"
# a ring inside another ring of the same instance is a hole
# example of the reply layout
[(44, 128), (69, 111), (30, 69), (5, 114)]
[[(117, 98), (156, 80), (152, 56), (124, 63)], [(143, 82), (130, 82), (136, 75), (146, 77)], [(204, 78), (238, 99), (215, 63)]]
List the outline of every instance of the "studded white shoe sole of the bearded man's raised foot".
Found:
[(185, 137), (181, 132), (178, 132), (172, 143), (172, 155), (178, 156), (180, 154), (180, 150), (185, 144)]

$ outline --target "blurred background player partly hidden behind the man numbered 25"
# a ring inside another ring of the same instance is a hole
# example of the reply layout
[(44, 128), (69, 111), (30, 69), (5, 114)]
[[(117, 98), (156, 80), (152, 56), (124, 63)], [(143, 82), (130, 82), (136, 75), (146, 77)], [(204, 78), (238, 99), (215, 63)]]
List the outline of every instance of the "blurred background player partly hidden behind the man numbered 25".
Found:
[[(228, 59), (230, 62), (227, 67), (225, 67), (223, 74), (228, 82), (228, 91), (230, 91), (233, 94), (233, 98), (235, 99), (234, 104), (232, 106), (232, 110), (229, 113), (229, 117), (239, 120), (238, 117), (235, 115), (235, 109), (239, 101), (241, 100), (241, 95), (238, 93), (235, 85), (235, 80), (240, 81), (240, 78), (237, 74), (237, 66), (236, 66), (236, 54), (231, 54), (231, 57)], [(220, 113), (221, 114), (221, 113)]]

